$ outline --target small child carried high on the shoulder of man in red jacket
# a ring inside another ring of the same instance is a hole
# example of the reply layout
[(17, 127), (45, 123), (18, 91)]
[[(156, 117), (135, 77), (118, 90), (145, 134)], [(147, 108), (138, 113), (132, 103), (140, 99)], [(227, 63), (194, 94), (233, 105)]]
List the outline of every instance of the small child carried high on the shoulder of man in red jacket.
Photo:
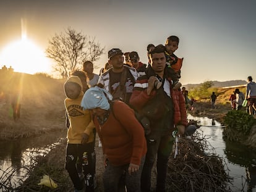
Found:
[(173, 80), (174, 89), (181, 88), (181, 83), (179, 83), (179, 78), (181, 78), (181, 67), (182, 59), (179, 59), (174, 52), (177, 50), (179, 45), (179, 38), (177, 36), (169, 36), (165, 42), (166, 56), (166, 67), (168, 69), (168, 75)]

